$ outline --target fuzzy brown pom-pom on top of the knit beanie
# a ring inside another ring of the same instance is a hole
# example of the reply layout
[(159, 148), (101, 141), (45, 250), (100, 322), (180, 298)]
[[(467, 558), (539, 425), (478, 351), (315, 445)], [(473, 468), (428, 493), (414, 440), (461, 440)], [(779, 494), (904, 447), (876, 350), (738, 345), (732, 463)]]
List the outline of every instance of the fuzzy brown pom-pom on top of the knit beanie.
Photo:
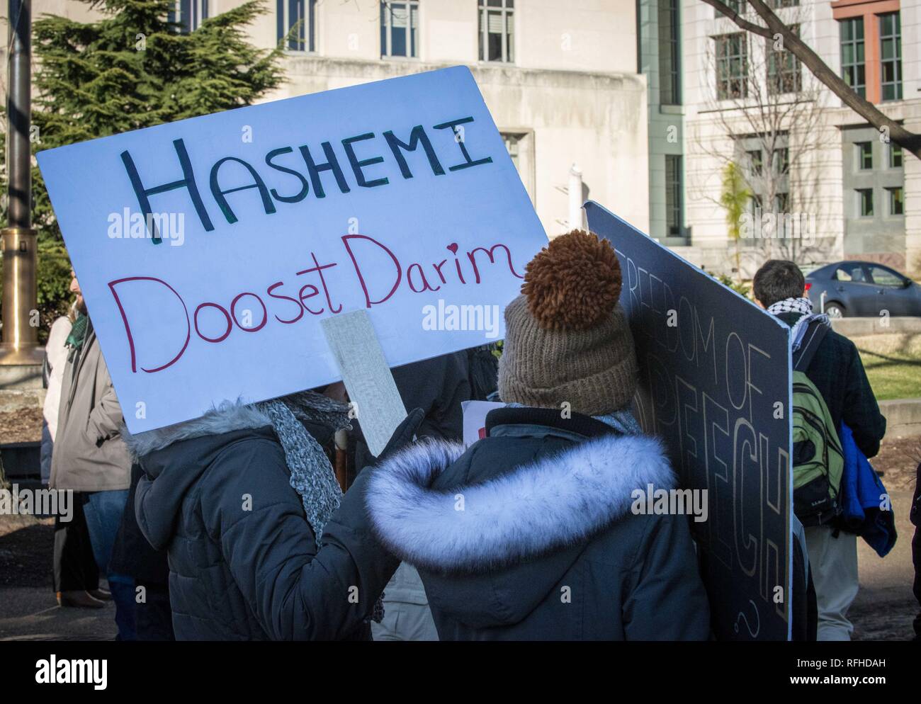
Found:
[(545, 330), (584, 330), (609, 315), (621, 294), (621, 265), (606, 239), (585, 230), (556, 237), (525, 268), (521, 293)]

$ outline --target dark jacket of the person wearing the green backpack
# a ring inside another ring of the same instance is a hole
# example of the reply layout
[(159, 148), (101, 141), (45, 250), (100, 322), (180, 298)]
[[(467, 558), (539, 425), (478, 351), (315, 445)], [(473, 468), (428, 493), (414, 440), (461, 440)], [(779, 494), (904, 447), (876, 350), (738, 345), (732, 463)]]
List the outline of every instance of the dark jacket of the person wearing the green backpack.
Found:
[[(782, 313), (777, 317), (792, 326), (799, 320), (799, 313)], [(857, 346), (844, 335), (829, 330), (806, 375), (825, 399), (834, 427), (840, 428), (844, 421), (863, 454), (876, 456), (886, 434), (886, 419), (869, 386)]]

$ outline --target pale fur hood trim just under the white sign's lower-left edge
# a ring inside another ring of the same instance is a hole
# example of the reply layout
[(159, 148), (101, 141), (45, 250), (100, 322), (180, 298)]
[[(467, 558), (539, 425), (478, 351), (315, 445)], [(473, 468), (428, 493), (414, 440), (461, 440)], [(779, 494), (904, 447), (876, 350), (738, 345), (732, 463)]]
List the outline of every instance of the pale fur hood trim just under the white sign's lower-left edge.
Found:
[(224, 401), (201, 418), (182, 421), (165, 428), (133, 435), (126, 427), (122, 427), (122, 439), (136, 460), (181, 440), (230, 433), (244, 428), (262, 428), (266, 425), (272, 425), (272, 421), (261, 410), (240, 401)]

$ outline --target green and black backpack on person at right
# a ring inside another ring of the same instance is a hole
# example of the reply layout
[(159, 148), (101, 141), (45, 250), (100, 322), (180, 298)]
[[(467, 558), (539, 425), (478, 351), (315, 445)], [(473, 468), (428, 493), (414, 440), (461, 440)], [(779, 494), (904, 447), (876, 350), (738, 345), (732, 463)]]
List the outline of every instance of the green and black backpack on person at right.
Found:
[(828, 331), (821, 321), (806, 330), (793, 354), (793, 511), (802, 525), (831, 523), (841, 514), (838, 492), (845, 457), (822, 394), (806, 376)]

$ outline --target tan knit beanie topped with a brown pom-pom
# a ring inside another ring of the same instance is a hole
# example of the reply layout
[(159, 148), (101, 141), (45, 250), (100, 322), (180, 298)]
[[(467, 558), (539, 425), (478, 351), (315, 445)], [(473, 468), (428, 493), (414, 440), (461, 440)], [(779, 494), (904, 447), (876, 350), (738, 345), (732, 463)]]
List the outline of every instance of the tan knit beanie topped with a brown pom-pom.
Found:
[(633, 335), (611, 243), (573, 230), (530, 260), (521, 295), (506, 307), (499, 396), (506, 403), (604, 415), (630, 405)]

